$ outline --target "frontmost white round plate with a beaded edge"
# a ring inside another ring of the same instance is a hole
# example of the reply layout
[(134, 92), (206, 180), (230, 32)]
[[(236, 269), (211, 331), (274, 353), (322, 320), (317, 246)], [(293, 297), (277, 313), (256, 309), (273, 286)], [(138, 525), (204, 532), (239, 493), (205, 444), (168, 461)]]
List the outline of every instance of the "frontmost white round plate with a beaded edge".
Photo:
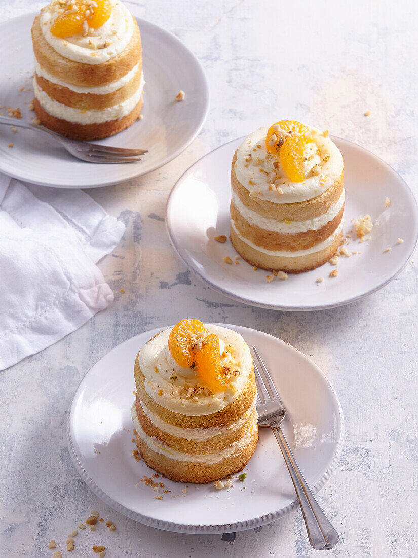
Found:
[[(269, 367), (287, 410), (285, 435), (316, 493), (341, 454), (344, 427), (336, 393), (319, 368), (284, 341), (254, 329), (226, 326), (244, 336), (250, 346), (254, 344)], [(133, 367), (138, 350), (161, 329), (137, 335), (111, 350), (77, 388), (67, 435), (82, 479), (116, 511), (167, 531), (241, 531), (290, 512), (297, 506), (295, 492), (269, 429), (259, 429), (259, 444), (244, 469), (246, 479), (241, 482), (235, 478), (230, 489), (159, 478), (171, 492), (159, 492), (163, 499), (157, 500), (152, 487), (140, 481), (154, 471), (131, 456), (136, 449), (130, 417)]]

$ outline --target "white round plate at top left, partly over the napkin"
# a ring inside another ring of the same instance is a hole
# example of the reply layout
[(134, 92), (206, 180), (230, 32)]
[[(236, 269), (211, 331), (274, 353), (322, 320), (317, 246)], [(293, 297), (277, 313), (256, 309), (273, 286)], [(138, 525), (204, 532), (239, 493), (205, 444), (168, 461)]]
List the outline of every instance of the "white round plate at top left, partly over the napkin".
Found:
[[(36, 13), (0, 24), (0, 104), (20, 107), (30, 122), (33, 98), (31, 26)], [(97, 143), (148, 149), (142, 161), (120, 165), (87, 163), (72, 157), (54, 138), (1, 126), (0, 171), (46, 186), (80, 188), (116, 184), (153, 171), (177, 157), (200, 132), (209, 107), (202, 66), (181, 41), (157, 25), (137, 18), (144, 57), (144, 118), (116, 136)], [(19, 91), (21, 88), (25, 90)], [(186, 93), (182, 102), (175, 97)], [(26, 104), (25, 104), (26, 102)], [(6, 112), (4, 112), (6, 114)], [(8, 147), (9, 143), (14, 147)]]

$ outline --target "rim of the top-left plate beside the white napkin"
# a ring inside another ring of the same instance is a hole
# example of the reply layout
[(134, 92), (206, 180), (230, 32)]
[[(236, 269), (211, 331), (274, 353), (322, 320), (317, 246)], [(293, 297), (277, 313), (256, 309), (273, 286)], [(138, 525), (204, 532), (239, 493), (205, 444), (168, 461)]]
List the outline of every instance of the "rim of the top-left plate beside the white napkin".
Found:
[[(209, 110), (210, 110), (210, 105), (211, 105), (211, 95), (210, 95), (210, 87), (209, 87), (209, 82), (205, 73), (205, 70), (203, 69), (203, 66), (200, 62), (200, 60), (198, 59), (198, 57), (195, 55), (195, 53), (190, 50), (188, 48), (188, 46), (186, 46), (186, 44), (184, 44), (176, 35), (174, 35), (174, 33), (172, 33), (171, 31), (168, 31), (167, 29), (164, 29), (163, 27), (160, 27), (159, 25), (157, 25), (156, 23), (153, 23), (152, 21), (148, 21), (145, 20), (142, 17), (138, 17), (135, 16), (133, 13), (134, 10), (130, 10), (130, 12), (132, 13), (132, 15), (134, 16), (135, 20), (138, 23), (138, 26), (141, 27), (142, 25), (145, 24), (145, 26), (149, 26), (151, 28), (157, 29), (159, 32), (165, 33), (166, 35), (168, 35), (172, 40), (174, 40), (174, 42), (176, 42), (182, 49), (186, 50), (188, 52), (188, 54), (191, 56), (191, 58), (195, 61), (197, 68), (200, 70), (200, 74), (201, 74), (201, 78), (203, 81), (203, 90), (202, 90), (202, 97), (201, 99), (205, 100), (205, 109), (203, 110), (203, 113), (201, 115), (200, 120), (197, 122), (197, 125), (195, 127), (195, 130), (193, 131), (193, 133), (191, 134), (191, 136), (188, 138), (188, 140), (186, 142), (184, 142), (176, 151), (174, 151), (171, 155), (169, 155), (168, 157), (164, 158), (161, 162), (159, 163), (155, 163), (155, 165), (153, 165), (150, 169), (148, 169), (145, 172), (139, 171), (139, 172), (135, 172), (135, 174), (132, 174), (130, 176), (121, 178), (121, 179), (113, 179), (113, 180), (106, 180), (105, 182), (92, 182), (91, 184), (87, 184), (87, 185), (74, 185), (74, 183), (66, 183), (66, 184), (60, 184), (60, 185), (56, 185), (56, 184), (52, 184), (52, 182), (43, 182), (40, 180), (33, 180), (33, 179), (28, 179), (27, 177), (22, 178), (21, 175), (16, 174), (16, 172), (9, 172), (8, 170), (4, 170), (2, 168), (2, 164), (1, 164), (1, 157), (0, 157), (0, 172), (3, 172), (5, 175), (10, 176), (16, 180), (21, 180), (23, 182), (28, 182), (29, 184), (36, 184), (36, 185), (41, 185), (41, 186), (47, 186), (47, 187), (51, 187), (51, 188), (69, 188), (69, 189), (84, 189), (84, 188), (100, 188), (100, 187), (105, 187), (105, 186), (111, 186), (111, 185), (115, 185), (115, 184), (121, 184), (122, 182), (126, 182), (128, 180), (133, 180), (135, 178), (138, 178), (139, 176), (146, 176), (147, 174), (149, 174), (150, 172), (153, 172), (157, 169), (160, 169), (161, 167), (167, 165), (167, 163), (171, 162), (173, 159), (175, 159), (176, 157), (178, 157), (183, 151), (185, 151), (187, 149), (187, 147), (192, 143), (192, 141), (194, 141), (196, 139), (196, 137), (198, 136), (198, 134), (200, 134), (200, 132), (202, 131), (203, 125), (206, 122)], [(35, 16), (38, 15), (38, 12), (25, 12), (22, 13), (18, 16), (14, 16), (11, 17), (7, 20), (4, 20), (3, 22), (0, 23), (0, 31), (2, 29), (3, 25), (7, 25), (9, 22), (16, 22), (17, 20), (24, 20), (25, 18), (28, 17), (32, 17), (35, 18)], [(97, 163), (91, 163), (91, 164), (97, 164)]]

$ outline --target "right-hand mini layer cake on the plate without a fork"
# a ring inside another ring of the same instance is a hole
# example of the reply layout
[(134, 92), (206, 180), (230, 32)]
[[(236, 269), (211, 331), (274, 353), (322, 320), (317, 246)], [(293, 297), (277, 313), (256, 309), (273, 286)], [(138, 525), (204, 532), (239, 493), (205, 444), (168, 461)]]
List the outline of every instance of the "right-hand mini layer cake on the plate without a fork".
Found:
[(252, 266), (300, 273), (337, 252), (343, 158), (328, 132), (281, 121), (250, 134), (231, 172), (231, 242)]

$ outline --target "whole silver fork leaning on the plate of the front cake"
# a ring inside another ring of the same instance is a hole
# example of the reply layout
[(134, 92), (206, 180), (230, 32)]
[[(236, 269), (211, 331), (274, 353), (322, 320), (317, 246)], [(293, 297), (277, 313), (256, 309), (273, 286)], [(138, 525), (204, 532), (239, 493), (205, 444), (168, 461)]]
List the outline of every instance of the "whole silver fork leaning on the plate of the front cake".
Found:
[(261, 368), (260, 372), (256, 363), (254, 363), (257, 399), (259, 402), (257, 404), (259, 426), (270, 426), (279, 442), (281, 453), (288, 466), (290, 477), (299, 499), (300, 509), (302, 509), (310, 546), (315, 550), (330, 550), (338, 543), (339, 535), (319, 507), (291, 453), (288, 442), (286, 442), (283, 431), (280, 428), (280, 422), (283, 421), (286, 410), (257, 349), (254, 346), (252, 349), (259, 360)]

